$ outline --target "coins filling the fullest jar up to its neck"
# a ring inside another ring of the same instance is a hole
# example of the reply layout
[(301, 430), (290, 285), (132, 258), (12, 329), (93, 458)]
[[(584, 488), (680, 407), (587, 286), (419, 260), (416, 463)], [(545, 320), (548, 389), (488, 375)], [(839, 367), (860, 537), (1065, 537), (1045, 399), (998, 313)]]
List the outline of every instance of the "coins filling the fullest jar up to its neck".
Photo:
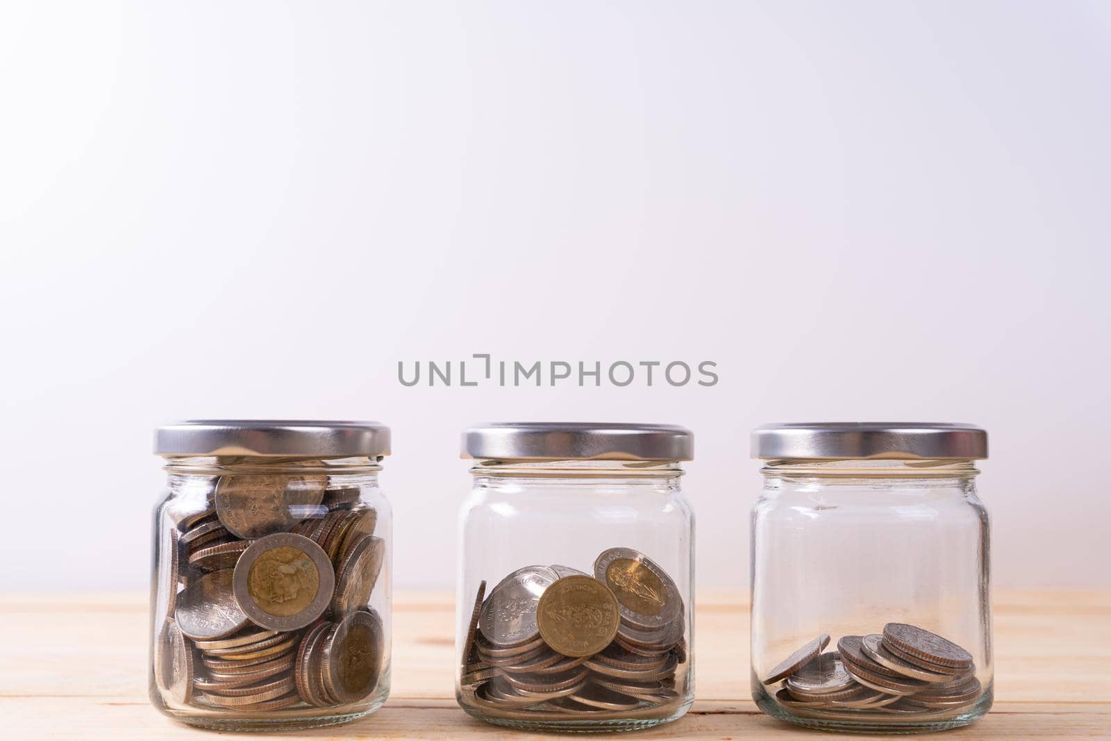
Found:
[(373, 693), (386, 640), (369, 603), (386, 542), (358, 488), (222, 475), (203, 507), (173, 519), (153, 668), (168, 702), (251, 713)]

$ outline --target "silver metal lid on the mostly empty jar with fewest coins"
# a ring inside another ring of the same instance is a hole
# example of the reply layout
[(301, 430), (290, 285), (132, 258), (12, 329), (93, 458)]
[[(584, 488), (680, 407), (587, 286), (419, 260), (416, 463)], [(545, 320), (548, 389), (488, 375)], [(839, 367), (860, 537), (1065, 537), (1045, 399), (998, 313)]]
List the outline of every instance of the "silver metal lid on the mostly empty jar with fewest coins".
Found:
[(765, 424), (752, 431), (752, 458), (972, 460), (988, 458), (988, 433), (941, 422)]

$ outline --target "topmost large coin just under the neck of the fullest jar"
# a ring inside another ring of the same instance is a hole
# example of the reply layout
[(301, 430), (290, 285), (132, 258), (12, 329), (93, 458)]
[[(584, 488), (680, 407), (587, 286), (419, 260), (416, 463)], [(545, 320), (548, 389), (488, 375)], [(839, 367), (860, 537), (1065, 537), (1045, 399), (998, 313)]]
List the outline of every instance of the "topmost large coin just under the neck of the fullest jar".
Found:
[(320, 504), (328, 477), (220, 477), (216, 510), (233, 535), (247, 540), (283, 532)]

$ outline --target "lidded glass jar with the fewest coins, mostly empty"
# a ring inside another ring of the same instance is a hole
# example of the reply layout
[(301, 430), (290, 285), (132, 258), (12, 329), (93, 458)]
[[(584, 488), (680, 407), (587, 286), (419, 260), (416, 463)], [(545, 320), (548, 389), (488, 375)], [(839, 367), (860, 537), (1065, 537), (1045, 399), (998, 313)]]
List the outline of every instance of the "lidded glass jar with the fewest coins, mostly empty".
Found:
[(988, 511), (960, 424), (753, 433), (752, 697), (821, 729), (937, 731), (991, 708)]

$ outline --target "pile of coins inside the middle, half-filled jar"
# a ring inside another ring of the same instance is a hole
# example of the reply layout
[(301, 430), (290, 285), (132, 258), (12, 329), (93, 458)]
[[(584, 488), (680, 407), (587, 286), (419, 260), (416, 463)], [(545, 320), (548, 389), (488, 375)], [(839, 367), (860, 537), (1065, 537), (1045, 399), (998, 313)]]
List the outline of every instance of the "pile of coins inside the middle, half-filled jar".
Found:
[(501, 718), (669, 713), (687, 695), (684, 613), (674, 581), (629, 548), (602, 552), (593, 575), (524, 567), (489, 597), (483, 581), (461, 657), (464, 707)]

